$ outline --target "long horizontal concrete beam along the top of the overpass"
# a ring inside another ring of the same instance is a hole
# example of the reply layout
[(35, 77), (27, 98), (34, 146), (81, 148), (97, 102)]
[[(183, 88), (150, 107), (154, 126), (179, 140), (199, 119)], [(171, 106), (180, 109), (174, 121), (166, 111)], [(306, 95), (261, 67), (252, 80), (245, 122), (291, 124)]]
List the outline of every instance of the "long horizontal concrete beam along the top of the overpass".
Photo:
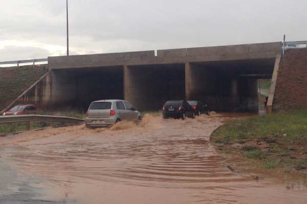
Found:
[(105, 66), (180, 64), (185, 62), (232, 61), (275, 58), (281, 42), (194, 47), (143, 52), (49, 57), (50, 69)]

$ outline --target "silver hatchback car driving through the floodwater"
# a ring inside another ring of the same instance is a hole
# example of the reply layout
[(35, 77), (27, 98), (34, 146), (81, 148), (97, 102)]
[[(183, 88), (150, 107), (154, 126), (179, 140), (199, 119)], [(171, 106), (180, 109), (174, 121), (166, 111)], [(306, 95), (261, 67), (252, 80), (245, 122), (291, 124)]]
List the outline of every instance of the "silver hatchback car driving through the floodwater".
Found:
[(86, 116), (86, 127), (111, 126), (121, 120), (139, 123), (142, 120), (140, 112), (125, 100), (93, 101)]

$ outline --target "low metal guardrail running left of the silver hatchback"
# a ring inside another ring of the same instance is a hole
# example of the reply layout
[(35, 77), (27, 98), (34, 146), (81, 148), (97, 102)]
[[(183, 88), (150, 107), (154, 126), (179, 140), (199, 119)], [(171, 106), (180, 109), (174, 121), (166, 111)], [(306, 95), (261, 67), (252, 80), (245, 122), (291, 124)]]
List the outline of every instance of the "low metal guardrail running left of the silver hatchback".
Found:
[(84, 119), (72, 118), (65, 116), (52, 116), (52, 115), (9, 115), (0, 116), (0, 124), (4, 123), (14, 123), (14, 122), (26, 122), (27, 130), (30, 130), (30, 122), (40, 121), (40, 122), (67, 122), (82, 124)]

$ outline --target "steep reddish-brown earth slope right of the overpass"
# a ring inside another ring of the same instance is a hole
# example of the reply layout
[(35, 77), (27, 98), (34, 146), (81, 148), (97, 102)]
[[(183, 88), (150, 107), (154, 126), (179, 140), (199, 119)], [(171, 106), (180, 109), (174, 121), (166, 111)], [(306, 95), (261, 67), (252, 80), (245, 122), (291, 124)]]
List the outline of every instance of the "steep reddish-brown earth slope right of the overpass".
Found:
[(279, 65), (273, 108), (307, 108), (307, 48), (291, 49)]

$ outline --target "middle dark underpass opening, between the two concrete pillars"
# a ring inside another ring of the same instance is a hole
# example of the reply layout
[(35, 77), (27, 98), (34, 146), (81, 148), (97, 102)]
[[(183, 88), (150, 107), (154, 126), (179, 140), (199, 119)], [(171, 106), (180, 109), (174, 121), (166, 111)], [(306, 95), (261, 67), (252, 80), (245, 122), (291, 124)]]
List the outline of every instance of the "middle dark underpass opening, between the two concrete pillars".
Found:
[(160, 110), (166, 100), (185, 98), (185, 65), (127, 66), (125, 99), (139, 110)]

